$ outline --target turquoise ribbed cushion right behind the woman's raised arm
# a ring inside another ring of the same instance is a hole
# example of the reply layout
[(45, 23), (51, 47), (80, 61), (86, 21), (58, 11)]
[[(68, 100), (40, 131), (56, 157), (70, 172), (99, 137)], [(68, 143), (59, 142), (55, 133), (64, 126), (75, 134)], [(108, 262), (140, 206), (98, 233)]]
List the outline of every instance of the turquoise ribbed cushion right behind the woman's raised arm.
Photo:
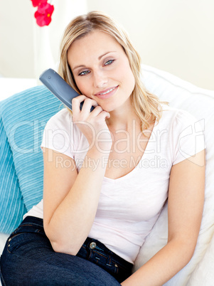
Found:
[[(26, 211), (43, 197), (43, 154), (40, 147), (43, 129), (50, 117), (62, 107), (64, 105), (44, 86), (24, 90), (1, 102), (2, 122), (13, 154), (14, 174), (16, 180), (18, 178)], [(6, 161), (11, 165), (12, 159)], [(7, 191), (14, 196), (14, 186)], [(18, 199), (12, 203), (17, 208), (16, 204), (20, 205)], [(1, 201), (1, 208), (3, 205), (4, 202)], [(22, 214), (23, 211), (20, 216)], [(5, 221), (6, 218), (2, 220)]]

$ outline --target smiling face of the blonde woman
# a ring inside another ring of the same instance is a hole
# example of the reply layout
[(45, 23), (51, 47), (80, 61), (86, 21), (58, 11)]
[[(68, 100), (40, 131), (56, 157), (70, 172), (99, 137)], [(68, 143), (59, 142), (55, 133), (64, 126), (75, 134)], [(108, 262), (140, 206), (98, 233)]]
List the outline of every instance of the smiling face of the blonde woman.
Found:
[(134, 75), (122, 46), (107, 33), (92, 31), (72, 43), (68, 63), (82, 95), (110, 112), (130, 105)]

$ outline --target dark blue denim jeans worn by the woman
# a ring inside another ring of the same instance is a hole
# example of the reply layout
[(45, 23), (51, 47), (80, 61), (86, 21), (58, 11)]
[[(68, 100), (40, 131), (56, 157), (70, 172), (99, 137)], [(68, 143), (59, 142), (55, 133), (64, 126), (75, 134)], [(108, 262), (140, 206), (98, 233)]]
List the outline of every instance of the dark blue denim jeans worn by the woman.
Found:
[(55, 253), (43, 220), (27, 216), (6, 241), (0, 274), (2, 285), (8, 286), (117, 286), (132, 274), (132, 266), (92, 238), (76, 256)]

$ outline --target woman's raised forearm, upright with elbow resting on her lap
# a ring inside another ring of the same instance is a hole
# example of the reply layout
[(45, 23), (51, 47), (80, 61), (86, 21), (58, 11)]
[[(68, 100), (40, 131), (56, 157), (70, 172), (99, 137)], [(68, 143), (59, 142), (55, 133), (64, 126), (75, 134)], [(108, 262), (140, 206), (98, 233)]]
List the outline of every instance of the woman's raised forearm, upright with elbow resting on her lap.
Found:
[(87, 152), (75, 183), (46, 226), (55, 251), (75, 254), (87, 238), (97, 211), (108, 157), (109, 153), (97, 149)]

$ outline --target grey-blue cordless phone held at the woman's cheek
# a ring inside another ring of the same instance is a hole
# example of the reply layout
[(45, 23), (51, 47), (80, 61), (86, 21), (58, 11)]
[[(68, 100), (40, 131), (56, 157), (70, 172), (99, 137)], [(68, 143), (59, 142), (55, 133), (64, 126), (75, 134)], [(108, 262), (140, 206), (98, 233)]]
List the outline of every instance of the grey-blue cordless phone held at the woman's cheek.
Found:
[[(50, 92), (55, 95), (55, 97), (58, 97), (58, 99), (63, 102), (70, 110), (72, 110), (71, 100), (73, 100), (74, 97), (77, 97), (79, 94), (71, 88), (68, 83), (63, 80), (60, 75), (55, 72), (52, 68), (49, 68), (48, 70), (45, 70), (39, 77), (43, 85), (46, 85), (46, 88), (50, 90)], [(83, 102), (80, 103), (80, 110), (82, 110)], [(90, 112), (94, 110), (95, 107), (92, 106), (90, 109)]]

